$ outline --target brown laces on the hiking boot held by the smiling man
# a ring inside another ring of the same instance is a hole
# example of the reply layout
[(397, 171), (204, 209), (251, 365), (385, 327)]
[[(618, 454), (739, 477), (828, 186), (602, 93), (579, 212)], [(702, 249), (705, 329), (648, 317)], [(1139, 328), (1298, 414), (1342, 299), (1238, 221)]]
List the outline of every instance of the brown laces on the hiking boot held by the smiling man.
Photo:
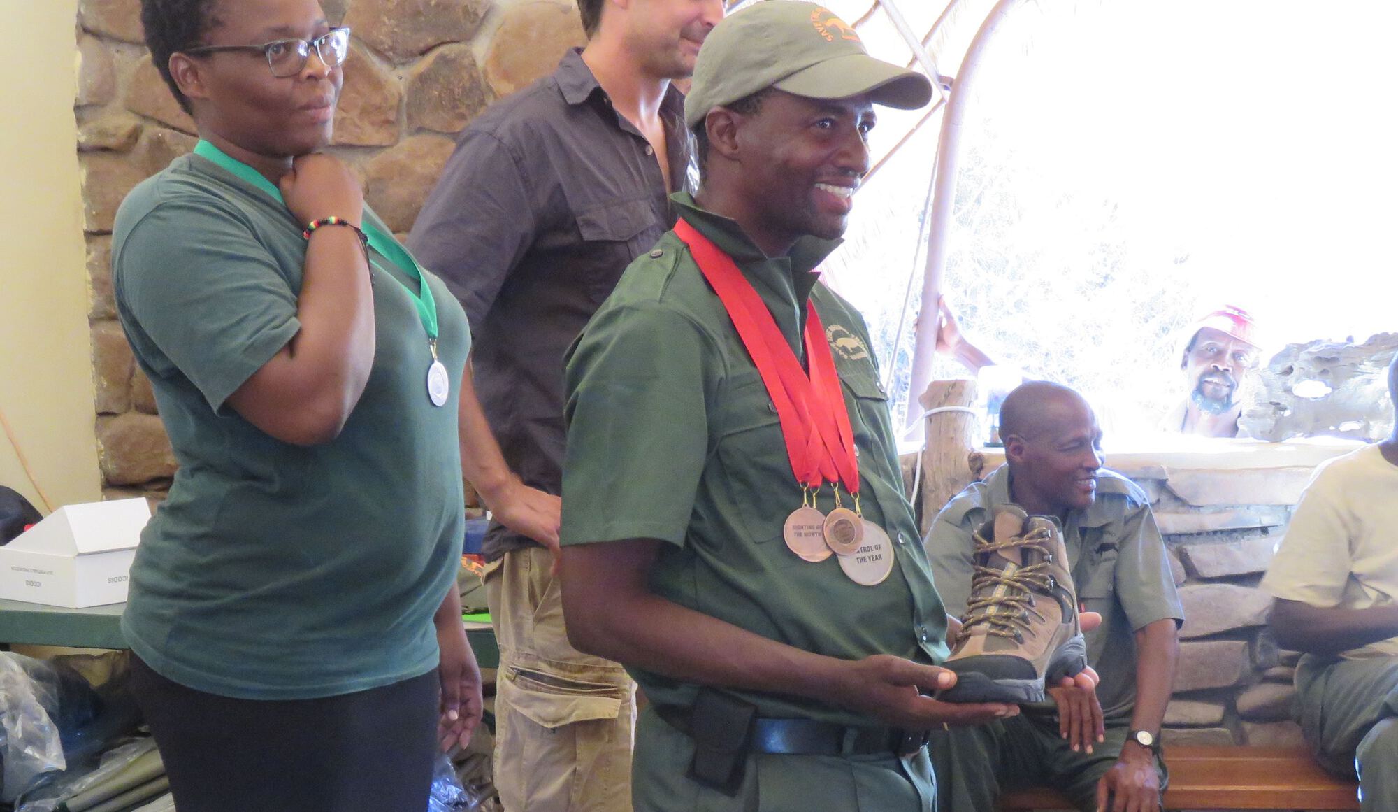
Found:
[[(1011, 536), (1002, 542), (987, 540), (976, 531), (974, 554), (997, 553), (1009, 549), (1032, 549), (1044, 556), (1037, 564), (1029, 564), (1007, 573), (998, 567), (976, 564), (972, 575), (972, 599), (966, 602), (966, 620), (962, 623), (958, 643), (969, 637), (973, 629), (984, 627), (986, 634), (997, 637), (1012, 637), (1022, 643), (1023, 633), (1029, 631), (1030, 615), (1043, 619), (1042, 615), (1030, 609), (1035, 603), (1033, 591), (1048, 592), (1053, 589), (1053, 575), (1047, 573), (1053, 560), (1048, 543), (1053, 535), (1047, 528), (1035, 528), (1022, 536)], [(1001, 589), (1004, 588), (1004, 589)], [(976, 598), (976, 595), (981, 595)]]

